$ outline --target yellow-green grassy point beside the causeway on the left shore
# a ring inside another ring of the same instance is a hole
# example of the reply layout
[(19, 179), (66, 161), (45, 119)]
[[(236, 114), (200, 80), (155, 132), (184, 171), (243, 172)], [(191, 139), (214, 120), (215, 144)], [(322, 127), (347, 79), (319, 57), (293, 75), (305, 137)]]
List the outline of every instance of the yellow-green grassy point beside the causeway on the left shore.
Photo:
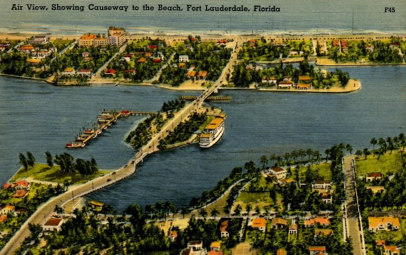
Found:
[(93, 175), (82, 176), (81, 174), (75, 173), (62, 173), (58, 165), (54, 165), (52, 168), (47, 164), (36, 163), (33, 168), (29, 168), (28, 171), (25, 171), (23, 168), (20, 168), (16, 174), (12, 177), (11, 181), (24, 178), (32, 178), (36, 180), (43, 181), (53, 181), (55, 183), (63, 184), (65, 179), (72, 181), (73, 184), (81, 184), (84, 181), (93, 179), (100, 174), (106, 174), (110, 171), (107, 170), (98, 170)]

